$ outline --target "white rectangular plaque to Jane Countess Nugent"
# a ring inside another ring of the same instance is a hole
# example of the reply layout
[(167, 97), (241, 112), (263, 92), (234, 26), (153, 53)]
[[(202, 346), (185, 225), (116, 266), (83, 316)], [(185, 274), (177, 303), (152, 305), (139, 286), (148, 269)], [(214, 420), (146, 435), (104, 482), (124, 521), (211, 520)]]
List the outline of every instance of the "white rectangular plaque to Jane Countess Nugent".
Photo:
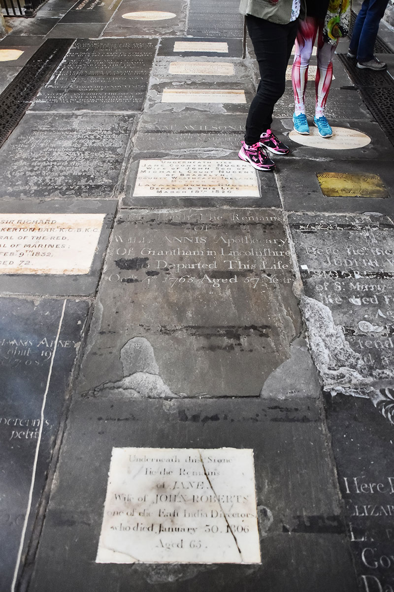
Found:
[(134, 197), (260, 197), (240, 160), (140, 160)]

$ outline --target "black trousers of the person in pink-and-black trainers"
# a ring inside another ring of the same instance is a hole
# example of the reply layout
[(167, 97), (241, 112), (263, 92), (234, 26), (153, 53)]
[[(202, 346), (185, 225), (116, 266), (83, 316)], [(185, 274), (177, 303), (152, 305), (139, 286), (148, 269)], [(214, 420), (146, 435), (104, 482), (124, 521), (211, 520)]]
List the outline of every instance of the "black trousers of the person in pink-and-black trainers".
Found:
[(271, 127), (273, 108), (285, 92), (286, 66), (297, 35), (298, 19), (278, 25), (247, 15), (246, 26), (261, 76), (246, 120), (245, 142), (250, 146)]

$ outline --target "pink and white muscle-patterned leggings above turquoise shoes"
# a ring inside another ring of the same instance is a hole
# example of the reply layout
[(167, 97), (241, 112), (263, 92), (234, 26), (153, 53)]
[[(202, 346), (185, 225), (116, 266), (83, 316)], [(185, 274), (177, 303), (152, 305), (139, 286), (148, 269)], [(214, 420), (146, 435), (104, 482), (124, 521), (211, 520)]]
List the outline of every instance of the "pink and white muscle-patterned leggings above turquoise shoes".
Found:
[(324, 42), (323, 25), (323, 21), (314, 17), (307, 17), (304, 21), (299, 22), (299, 29), (295, 40), (294, 63), (291, 71), (296, 115), (305, 113), (304, 99), (305, 88), (308, 82), (308, 66), (316, 36), (317, 72), (315, 79), (315, 116), (318, 118), (324, 115), (324, 107), (333, 79), (333, 55), (336, 46)]

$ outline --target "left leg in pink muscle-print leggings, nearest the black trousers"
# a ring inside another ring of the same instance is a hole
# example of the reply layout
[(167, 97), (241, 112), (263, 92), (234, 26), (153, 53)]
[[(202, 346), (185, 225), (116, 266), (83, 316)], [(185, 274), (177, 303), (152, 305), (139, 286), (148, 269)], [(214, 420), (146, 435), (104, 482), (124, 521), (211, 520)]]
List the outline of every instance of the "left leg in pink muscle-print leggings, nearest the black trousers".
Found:
[(294, 92), (294, 114), (305, 114), (305, 88), (308, 82), (308, 66), (312, 55), (312, 48), (318, 30), (318, 22), (313, 17), (307, 17), (299, 22), (295, 39), (295, 56), (291, 70), (291, 81)]

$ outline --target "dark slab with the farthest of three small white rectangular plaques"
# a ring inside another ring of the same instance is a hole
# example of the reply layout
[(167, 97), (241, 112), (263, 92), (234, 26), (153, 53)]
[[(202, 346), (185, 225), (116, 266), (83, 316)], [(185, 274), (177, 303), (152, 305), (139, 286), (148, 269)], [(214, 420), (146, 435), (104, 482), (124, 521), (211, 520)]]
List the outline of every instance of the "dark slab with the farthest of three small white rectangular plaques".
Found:
[(242, 40), (217, 37), (163, 37), (158, 56), (177, 57), (242, 57)]

